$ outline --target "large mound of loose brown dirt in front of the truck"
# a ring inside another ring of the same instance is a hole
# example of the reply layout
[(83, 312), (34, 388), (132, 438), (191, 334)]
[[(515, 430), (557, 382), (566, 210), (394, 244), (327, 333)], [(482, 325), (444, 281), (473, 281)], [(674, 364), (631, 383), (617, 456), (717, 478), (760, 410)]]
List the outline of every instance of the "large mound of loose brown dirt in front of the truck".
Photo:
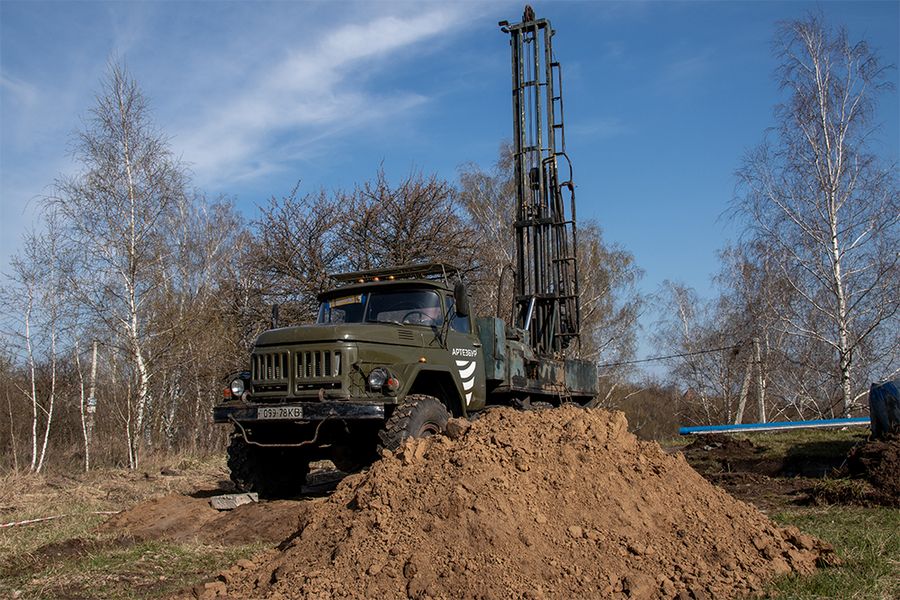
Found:
[(708, 598), (833, 560), (621, 413), (489, 411), (410, 440), (198, 590), (234, 598)]

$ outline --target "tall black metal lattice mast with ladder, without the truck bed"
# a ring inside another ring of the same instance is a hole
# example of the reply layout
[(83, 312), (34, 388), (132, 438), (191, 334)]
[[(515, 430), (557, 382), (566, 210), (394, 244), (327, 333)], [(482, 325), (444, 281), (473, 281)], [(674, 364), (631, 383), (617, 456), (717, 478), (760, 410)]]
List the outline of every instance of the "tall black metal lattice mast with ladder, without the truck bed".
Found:
[[(554, 31), (547, 19), (535, 19), (526, 7), (521, 23), (500, 25), (510, 34), (512, 48), (516, 325), (529, 332), (538, 354), (559, 356), (578, 339), (581, 321), (575, 185), (565, 150), (562, 69), (553, 58)], [(568, 165), (563, 181), (560, 159)]]

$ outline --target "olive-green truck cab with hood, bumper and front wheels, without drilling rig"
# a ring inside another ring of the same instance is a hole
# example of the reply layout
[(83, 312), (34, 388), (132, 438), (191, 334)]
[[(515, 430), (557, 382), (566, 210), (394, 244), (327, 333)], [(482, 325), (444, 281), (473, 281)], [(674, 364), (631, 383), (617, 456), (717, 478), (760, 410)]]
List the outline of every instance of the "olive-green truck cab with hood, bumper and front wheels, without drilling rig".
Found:
[(299, 481), (310, 460), (352, 468), (485, 405), (482, 343), (458, 269), (333, 277), (342, 285), (320, 294), (316, 323), (262, 333), (214, 408), (217, 423), (234, 426), (229, 466), (242, 489), (280, 492), (276, 463)]

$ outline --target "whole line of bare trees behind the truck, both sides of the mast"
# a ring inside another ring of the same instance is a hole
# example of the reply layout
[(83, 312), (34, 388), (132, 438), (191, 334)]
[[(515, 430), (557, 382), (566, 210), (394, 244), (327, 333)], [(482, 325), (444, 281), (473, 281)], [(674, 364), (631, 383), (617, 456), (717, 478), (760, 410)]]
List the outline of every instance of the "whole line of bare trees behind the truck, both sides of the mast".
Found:
[[(677, 423), (839, 416), (900, 367), (895, 165), (870, 149), (887, 67), (818, 17), (784, 24), (787, 100), (743, 158), (711, 300), (638, 291), (627, 249), (579, 223), (584, 317), (572, 351), (601, 365), (598, 404), (645, 435)], [(329, 274), (439, 261), (463, 267), (480, 316), (510, 319), (512, 160), (455, 180), (383, 169), (351, 189), (298, 184), (255, 214), (194, 188), (136, 81), (111, 64), (76, 134), (79, 169), (41, 200), (0, 293), (6, 425), (0, 469), (135, 468), (148, 453), (220, 450), (210, 410), (282, 306), (314, 319)], [(639, 319), (666, 373), (634, 363)]]

